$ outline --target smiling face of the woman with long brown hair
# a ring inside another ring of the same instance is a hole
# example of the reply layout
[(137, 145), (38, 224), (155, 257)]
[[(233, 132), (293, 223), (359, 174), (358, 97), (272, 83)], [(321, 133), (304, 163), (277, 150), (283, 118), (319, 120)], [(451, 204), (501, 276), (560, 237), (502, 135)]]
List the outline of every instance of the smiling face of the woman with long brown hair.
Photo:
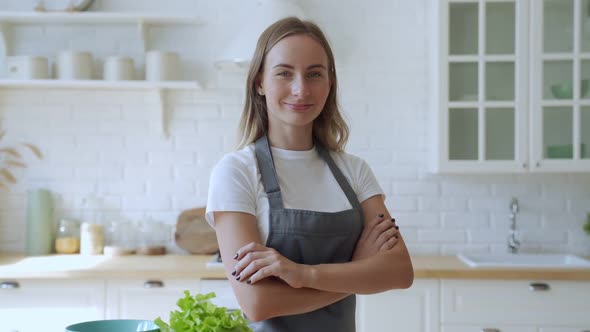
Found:
[(324, 48), (305, 34), (283, 38), (266, 55), (257, 89), (265, 96), (270, 127), (311, 129), (330, 93)]

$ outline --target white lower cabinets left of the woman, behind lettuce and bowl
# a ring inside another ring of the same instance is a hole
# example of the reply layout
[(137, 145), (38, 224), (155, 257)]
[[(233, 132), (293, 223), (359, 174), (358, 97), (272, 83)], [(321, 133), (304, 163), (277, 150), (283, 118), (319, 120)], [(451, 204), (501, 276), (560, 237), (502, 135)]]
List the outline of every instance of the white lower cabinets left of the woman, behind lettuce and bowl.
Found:
[(58, 332), (100, 319), (168, 322), (185, 290), (215, 292), (213, 303), (239, 309), (227, 280), (0, 280), (0, 332)]

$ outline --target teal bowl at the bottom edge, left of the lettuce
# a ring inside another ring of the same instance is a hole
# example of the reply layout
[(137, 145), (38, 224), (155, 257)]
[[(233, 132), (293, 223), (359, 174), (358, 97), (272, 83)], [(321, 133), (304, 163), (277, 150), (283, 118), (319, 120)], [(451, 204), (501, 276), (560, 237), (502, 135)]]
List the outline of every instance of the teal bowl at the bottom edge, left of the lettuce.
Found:
[(160, 329), (150, 320), (111, 319), (70, 325), (66, 332), (160, 332)]

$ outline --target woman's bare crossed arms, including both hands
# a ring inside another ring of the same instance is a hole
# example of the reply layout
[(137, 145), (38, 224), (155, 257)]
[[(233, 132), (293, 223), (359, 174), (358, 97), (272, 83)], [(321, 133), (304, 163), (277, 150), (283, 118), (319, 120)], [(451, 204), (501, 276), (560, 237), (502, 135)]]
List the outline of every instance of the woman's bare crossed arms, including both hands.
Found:
[[(412, 263), (383, 197), (365, 200), (362, 208), (365, 228), (353, 261), (320, 265), (296, 264), (261, 245), (253, 215), (215, 212), (215, 230), (228, 279), (248, 318), (258, 321), (300, 314), (350, 294), (410, 287), (414, 279)], [(380, 214), (383, 216), (376, 217)]]

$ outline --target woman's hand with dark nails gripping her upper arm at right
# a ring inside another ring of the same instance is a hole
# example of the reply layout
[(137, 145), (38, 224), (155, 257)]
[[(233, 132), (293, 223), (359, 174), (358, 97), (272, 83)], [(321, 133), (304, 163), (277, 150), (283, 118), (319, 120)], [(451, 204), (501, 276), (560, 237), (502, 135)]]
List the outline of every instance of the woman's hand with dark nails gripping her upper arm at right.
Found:
[(385, 218), (382, 214), (378, 215), (365, 224), (356, 243), (352, 260), (361, 260), (379, 251), (389, 250), (395, 246), (398, 238), (399, 227), (395, 224), (395, 219)]

